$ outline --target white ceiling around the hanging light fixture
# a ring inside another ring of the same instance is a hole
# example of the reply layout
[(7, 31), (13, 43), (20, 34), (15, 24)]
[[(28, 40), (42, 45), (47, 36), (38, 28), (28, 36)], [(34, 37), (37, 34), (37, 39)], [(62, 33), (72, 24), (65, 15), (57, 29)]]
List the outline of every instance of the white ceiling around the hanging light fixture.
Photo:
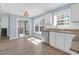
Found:
[(24, 12), (29, 13), (28, 17), (35, 17), (49, 10), (53, 10), (67, 3), (0, 3), (2, 13), (10, 13), (23, 16)]

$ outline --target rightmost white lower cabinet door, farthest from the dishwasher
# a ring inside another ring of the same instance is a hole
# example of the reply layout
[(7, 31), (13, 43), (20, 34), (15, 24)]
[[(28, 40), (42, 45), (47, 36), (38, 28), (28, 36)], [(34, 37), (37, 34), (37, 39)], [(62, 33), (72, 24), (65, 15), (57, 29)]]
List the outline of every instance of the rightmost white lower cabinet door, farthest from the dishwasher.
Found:
[(67, 53), (71, 53), (70, 47), (74, 36), (75, 36), (74, 34), (65, 34), (65, 51)]

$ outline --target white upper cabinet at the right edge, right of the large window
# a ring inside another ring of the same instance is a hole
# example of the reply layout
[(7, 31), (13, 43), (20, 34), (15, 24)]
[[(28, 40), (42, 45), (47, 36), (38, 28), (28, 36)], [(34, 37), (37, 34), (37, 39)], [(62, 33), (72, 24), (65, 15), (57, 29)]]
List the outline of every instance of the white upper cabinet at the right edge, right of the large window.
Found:
[(79, 4), (71, 6), (71, 20), (72, 22), (79, 22)]

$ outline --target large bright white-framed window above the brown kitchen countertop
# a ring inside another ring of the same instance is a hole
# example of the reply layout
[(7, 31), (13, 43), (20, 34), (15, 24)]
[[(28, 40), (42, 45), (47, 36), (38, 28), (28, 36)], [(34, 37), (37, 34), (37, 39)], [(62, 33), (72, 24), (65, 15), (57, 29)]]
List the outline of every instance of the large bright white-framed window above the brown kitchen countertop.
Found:
[(66, 9), (54, 14), (54, 25), (69, 25), (70, 9)]

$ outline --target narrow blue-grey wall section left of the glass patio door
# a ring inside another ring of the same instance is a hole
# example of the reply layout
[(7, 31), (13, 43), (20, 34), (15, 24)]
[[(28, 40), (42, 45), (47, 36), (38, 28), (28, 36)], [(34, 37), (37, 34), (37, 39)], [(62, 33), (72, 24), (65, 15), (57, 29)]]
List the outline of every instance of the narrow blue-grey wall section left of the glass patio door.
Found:
[(10, 15), (10, 39), (17, 37), (16, 33), (16, 17), (14, 15)]

